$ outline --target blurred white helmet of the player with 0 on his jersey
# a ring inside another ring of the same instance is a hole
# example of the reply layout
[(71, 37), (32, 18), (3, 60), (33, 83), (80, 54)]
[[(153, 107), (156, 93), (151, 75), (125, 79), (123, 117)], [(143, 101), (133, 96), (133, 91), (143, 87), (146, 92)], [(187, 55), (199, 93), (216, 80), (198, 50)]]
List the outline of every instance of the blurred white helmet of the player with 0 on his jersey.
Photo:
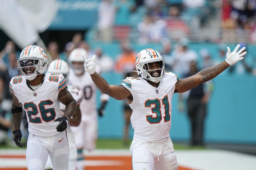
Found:
[[(81, 74), (84, 72), (84, 59), (82, 55), (87, 57), (87, 51), (84, 48), (75, 48), (68, 57), (68, 62), (70, 67), (73, 68), (76, 74)], [(73, 63), (82, 63), (81, 65), (73, 65)]]

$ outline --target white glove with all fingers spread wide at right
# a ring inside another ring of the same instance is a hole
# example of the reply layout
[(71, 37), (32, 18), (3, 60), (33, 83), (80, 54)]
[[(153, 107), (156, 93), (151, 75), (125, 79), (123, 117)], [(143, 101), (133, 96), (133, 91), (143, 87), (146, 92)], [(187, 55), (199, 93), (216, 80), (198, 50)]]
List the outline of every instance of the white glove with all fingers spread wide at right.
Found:
[[(235, 47), (235, 49), (234, 49), (234, 51), (233, 51), (232, 53), (230, 53), (230, 48), (227, 47), (227, 48), (228, 48), (228, 52), (227, 52), (227, 58), (226, 58), (225, 61), (226, 61), (229, 65), (233, 65), (233, 64), (237, 63), (238, 61), (243, 60), (243, 56), (247, 53), (246, 51), (243, 52), (243, 51), (245, 50), (245, 47), (241, 48), (241, 49), (238, 51), (239, 47), (240, 47), (240, 44), (238, 44), (238, 45)], [(237, 52), (237, 51), (238, 51), (238, 52)], [(242, 53), (242, 52), (243, 52), (243, 53)], [(242, 53), (242, 54), (240, 54), (240, 53)]]

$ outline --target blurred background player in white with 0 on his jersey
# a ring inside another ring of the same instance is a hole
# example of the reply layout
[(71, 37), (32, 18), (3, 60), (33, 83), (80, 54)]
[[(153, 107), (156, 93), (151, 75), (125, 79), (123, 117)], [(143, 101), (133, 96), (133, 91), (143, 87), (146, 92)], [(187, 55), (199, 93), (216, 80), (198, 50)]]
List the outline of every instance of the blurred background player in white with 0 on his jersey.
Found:
[[(84, 155), (83, 149), (88, 151), (93, 150), (96, 147), (96, 140), (98, 138), (98, 113), (96, 109), (96, 85), (91, 80), (91, 76), (84, 70), (84, 60), (81, 56), (87, 56), (87, 51), (84, 48), (74, 49), (68, 58), (69, 65), (71, 67), (69, 74), (69, 84), (77, 87), (83, 91), (83, 100), (80, 104), (80, 110), (82, 114), (81, 123), (77, 127), (71, 127), (75, 136), (75, 143), (77, 146), (77, 169), (84, 169)], [(96, 67), (98, 71), (99, 67)], [(102, 114), (102, 110), (106, 105), (108, 95), (103, 94), (101, 96), (101, 107), (99, 111)]]

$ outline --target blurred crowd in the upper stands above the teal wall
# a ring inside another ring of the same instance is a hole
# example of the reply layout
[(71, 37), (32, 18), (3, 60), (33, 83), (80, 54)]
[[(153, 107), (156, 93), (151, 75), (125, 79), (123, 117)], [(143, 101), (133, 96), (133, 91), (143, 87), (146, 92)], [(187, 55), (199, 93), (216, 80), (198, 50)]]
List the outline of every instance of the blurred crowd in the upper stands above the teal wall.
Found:
[[(97, 39), (109, 42), (128, 38), (140, 44), (177, 41), (180, 37), (196, 40), (199, 30), (208, 28), (204, 41), (254, 43), (255, 11), (255, 0), (102, 0)], [(221, 22), (220, 31), (209, 39), (211, 27), (205, 25), (212, 18)]]

